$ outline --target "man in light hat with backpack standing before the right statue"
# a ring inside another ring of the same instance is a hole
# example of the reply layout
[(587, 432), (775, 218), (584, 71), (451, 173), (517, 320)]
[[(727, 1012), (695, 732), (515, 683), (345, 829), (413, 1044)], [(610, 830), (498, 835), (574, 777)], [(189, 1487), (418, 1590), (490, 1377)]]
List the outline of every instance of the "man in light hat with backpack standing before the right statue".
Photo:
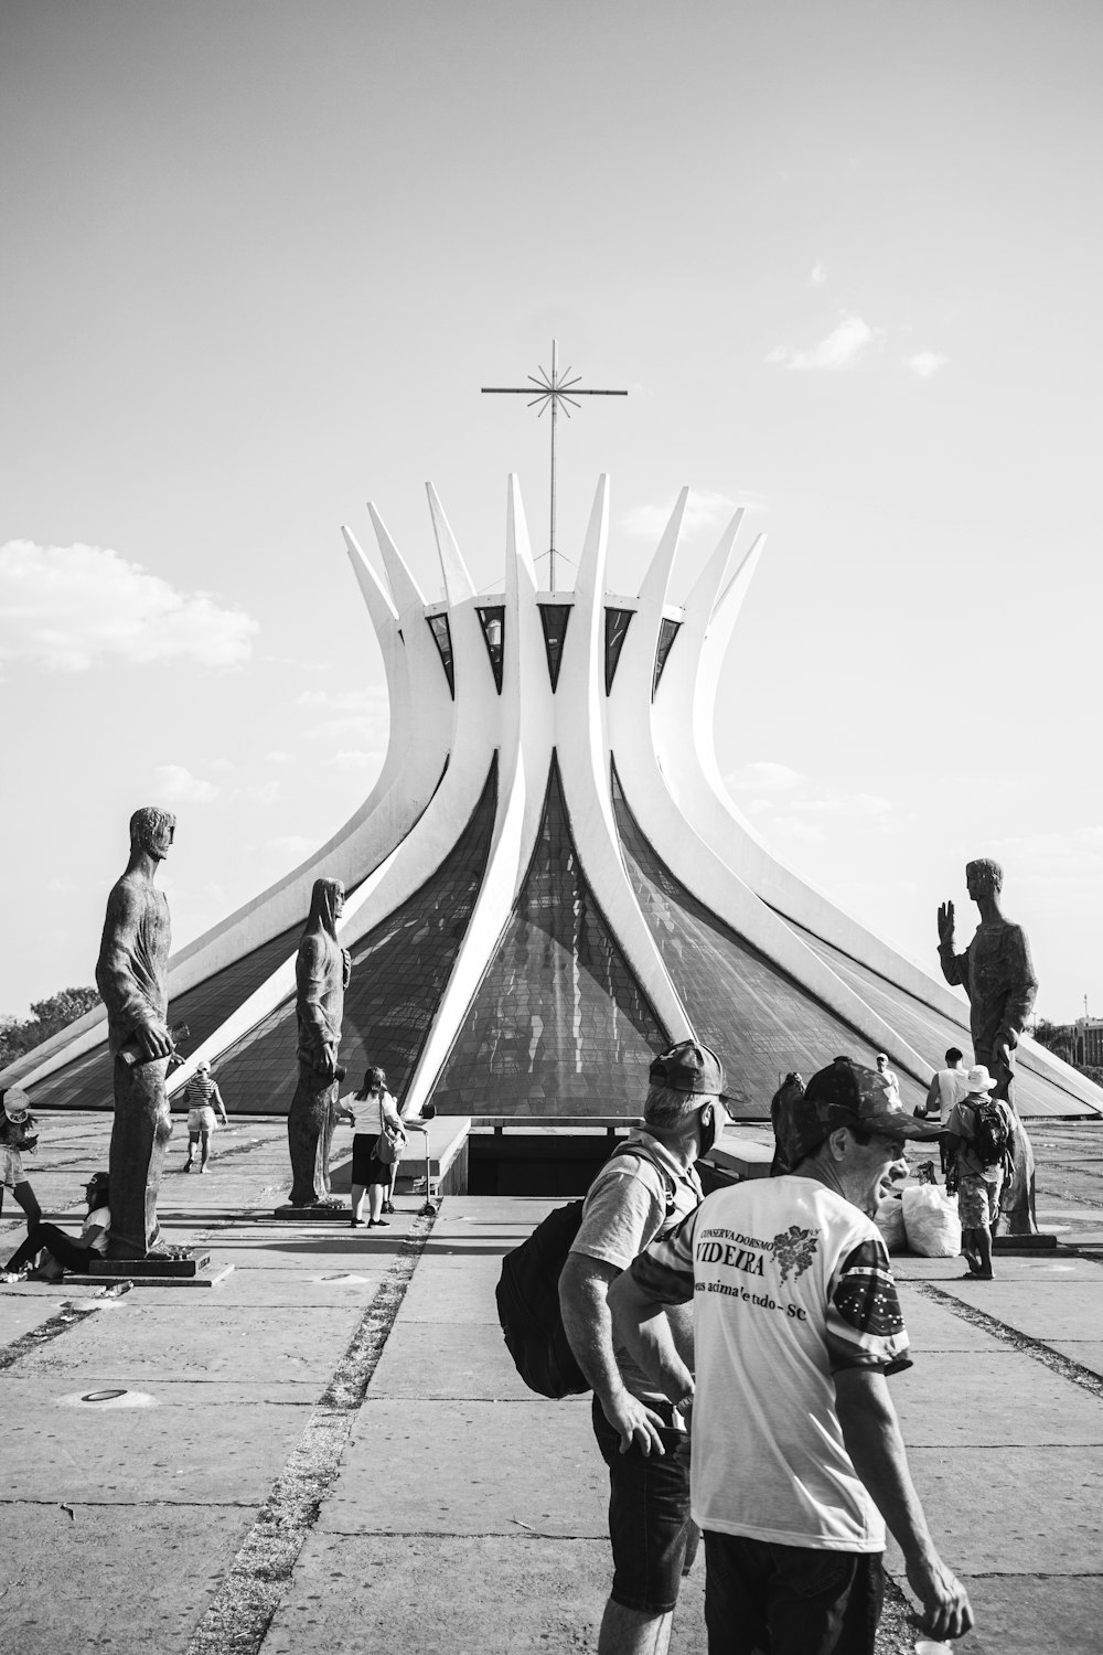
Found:
[(972, 1281), (992, 1279), (992, 1231), (1010, 1165), (1015, 1117), (984, 1064), (969, 1069), (969, 1091), (946, 1122), (948, 1182), (957, 1182), (961, 1251)]

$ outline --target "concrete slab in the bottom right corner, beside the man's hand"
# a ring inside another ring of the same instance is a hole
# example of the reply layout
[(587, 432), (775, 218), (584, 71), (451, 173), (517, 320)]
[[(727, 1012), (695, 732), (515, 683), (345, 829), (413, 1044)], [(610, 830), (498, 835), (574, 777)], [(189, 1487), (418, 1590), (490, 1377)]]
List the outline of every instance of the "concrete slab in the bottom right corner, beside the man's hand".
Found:
[[(1005, 1574), (987, 1579), (962, 1576), (977, 1638), (984, 1650), (999, 1655), (1100, 1655), (1103, 1627), (1103, 1579), (1077, 1581), (1070, 1576)], [(967, 1645), (964, 1645), (967, 1650)], [(964, 1655), (964, 1652), (962, 1652)]]

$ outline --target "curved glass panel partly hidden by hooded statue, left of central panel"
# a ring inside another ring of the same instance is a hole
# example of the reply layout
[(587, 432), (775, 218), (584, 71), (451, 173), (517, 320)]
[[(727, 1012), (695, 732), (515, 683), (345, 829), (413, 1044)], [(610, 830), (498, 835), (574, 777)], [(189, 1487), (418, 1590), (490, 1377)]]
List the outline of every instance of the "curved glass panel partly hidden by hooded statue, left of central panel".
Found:
[[(402, 1101), (443, 996), (483, 882), (498, 799), (494, 758), (471, 819), (437, 872), (354, 943), (341, 1063), (354, 1091), (364, 1069), (387, 1071)], [(298, 945), (298, 938), (296, 938)], [(294, 998), (288, 996), (217, 1063), (230, 1109), (284, 1114), (296, 1086)]]

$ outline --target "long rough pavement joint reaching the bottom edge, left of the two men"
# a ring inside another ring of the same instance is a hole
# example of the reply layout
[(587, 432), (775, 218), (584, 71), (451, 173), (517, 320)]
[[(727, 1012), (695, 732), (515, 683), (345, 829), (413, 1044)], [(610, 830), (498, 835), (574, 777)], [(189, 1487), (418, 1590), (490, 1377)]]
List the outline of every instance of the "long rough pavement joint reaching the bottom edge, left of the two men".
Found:
[(433, 1228), (413, 1220), (402, 1250), (314, 1403), (306, 1428), (275, 1478), (230, 1572), (195, 1627), (187, 1655), (258, 1655), (291, 1584), (294, 1564), (341, 1470), (356, 1415)]

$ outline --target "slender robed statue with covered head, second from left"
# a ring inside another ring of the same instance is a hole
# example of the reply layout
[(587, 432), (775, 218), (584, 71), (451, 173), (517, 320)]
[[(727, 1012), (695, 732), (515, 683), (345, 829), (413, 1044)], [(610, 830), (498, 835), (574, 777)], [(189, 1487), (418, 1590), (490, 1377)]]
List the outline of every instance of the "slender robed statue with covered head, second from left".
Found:
[(329, 1195), (329, 1147), (337, 1120), (337, 1054), (344, 991), (352, 973), (337, 942), (344, 907), (339, 879), (316, 879), (311, 912), (294, 962), (299, 1082), (288, 1111), (291, 1206), (336, 1206)]

